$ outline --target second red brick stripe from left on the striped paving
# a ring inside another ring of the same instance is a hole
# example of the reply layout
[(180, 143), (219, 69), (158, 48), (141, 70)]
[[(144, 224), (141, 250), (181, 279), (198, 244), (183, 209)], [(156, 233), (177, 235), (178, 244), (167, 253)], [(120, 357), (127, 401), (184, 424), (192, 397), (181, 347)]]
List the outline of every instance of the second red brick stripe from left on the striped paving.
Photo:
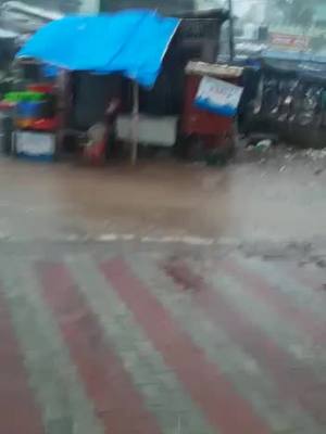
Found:
[(105, 432), (159, 434), (155, 420), (145, 409), (67, 268), (63, 264), (39, 263), (37, 272), (45, 299), (58, 319)]

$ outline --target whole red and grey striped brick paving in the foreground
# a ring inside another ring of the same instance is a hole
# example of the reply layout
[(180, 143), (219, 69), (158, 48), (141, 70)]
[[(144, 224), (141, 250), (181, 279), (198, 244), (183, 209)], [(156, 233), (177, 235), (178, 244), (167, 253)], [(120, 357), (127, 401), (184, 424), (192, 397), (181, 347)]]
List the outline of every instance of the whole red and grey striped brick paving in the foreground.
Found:
[(326, 276), (230, 255), (0, 256), (0, 432), (326, 433)]

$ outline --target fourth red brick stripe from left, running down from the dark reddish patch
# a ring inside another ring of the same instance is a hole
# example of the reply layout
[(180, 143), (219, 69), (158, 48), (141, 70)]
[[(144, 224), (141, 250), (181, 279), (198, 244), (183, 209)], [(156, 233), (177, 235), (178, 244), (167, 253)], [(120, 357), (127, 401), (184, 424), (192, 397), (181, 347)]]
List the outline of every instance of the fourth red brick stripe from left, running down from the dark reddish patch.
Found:
[[(279, 347), (262, 329), (223, 295), (210, 288), (203, 279), (195, 273), (186, 264), (177, 264), (188, 279), (200, 282), (193, 293), (195, 303), (205, 315), (222, 327), (226, 333), (274, 376), (281, 399), (297, 401), (310, 414), (322, 423), (326, 423), (326, 405), (321, 404), (319, 396), (326, 396), (326, 384), (315, 378), (314, 373), (302, 362)], [(178, 269), (170, 267), (170, 273), (179, 275)], [(277, 320), (277, 319), (276, 319)]]

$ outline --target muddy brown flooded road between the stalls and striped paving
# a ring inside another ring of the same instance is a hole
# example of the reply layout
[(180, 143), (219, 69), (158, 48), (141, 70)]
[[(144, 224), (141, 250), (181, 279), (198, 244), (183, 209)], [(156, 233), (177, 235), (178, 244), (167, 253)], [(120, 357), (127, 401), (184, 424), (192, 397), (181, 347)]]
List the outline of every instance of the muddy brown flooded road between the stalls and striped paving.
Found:
[(208, 168), (171, 162), (105, 168), (0, 163), (0, 233), (13, 238), (326, 235), (326, 171), (305, 161)]

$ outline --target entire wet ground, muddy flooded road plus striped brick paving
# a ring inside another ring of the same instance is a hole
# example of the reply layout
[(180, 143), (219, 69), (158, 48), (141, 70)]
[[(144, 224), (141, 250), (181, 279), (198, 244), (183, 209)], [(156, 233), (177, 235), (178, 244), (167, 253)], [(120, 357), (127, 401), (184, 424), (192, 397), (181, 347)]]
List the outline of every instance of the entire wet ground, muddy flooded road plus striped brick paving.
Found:
[(1, 162), (0, 432), (324, 434), (326, 173), (289, 159)]

